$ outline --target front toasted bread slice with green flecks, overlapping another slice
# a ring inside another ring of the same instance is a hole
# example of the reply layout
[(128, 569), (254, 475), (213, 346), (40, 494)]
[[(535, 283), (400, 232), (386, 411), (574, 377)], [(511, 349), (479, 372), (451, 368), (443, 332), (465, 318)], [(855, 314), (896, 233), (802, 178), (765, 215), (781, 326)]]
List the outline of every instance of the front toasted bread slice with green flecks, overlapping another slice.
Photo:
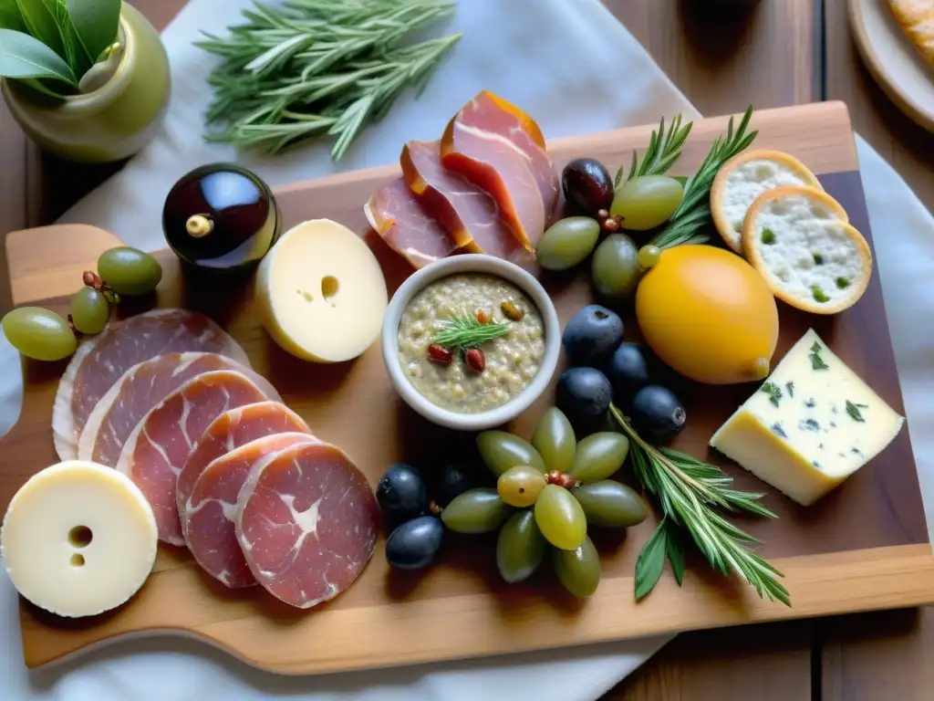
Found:
[(869, 244), (828, 193), (776, 188), (760, 194), (743, 224), (743, 250), (783, 302), (814, 314), (836, 314), (866, 292)]

